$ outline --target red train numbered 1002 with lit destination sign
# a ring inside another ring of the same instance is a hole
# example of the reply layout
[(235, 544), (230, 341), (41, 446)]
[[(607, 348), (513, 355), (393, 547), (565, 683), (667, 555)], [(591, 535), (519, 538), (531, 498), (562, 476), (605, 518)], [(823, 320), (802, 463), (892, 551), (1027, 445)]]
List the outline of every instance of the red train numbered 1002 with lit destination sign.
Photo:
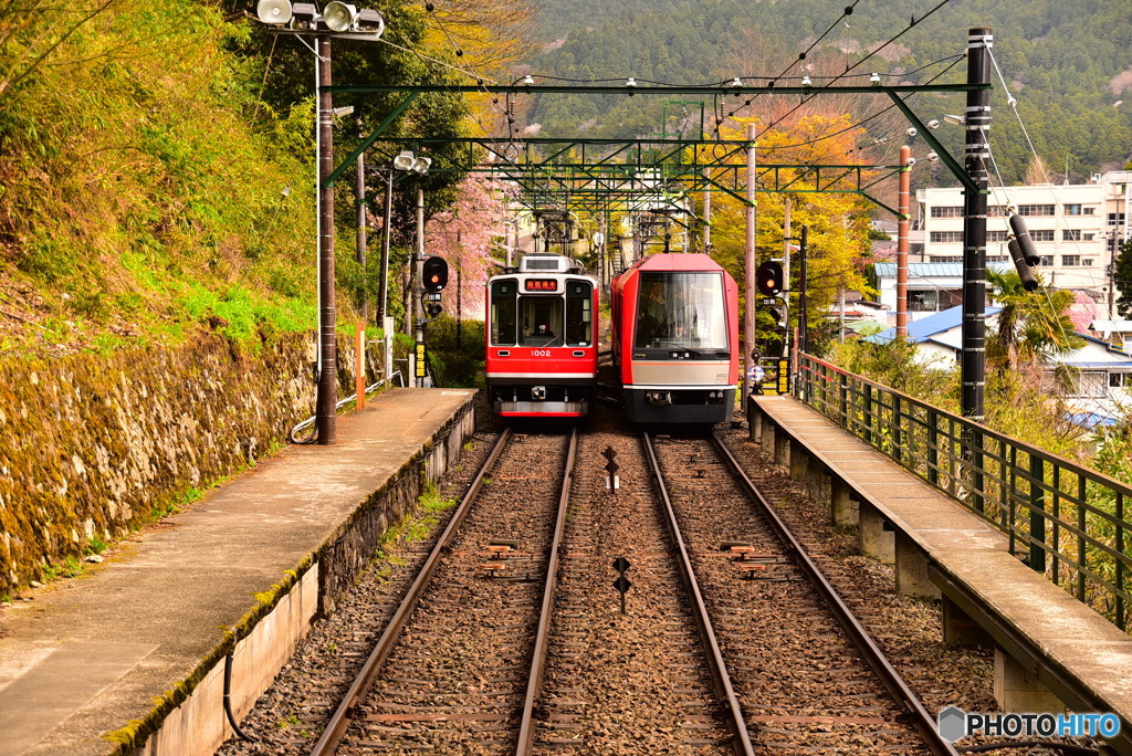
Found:
[(487, 378), (492, 411), (576, 418), (598, 375), (598, 281), (560, 255), (526, 255), (488, 280)]

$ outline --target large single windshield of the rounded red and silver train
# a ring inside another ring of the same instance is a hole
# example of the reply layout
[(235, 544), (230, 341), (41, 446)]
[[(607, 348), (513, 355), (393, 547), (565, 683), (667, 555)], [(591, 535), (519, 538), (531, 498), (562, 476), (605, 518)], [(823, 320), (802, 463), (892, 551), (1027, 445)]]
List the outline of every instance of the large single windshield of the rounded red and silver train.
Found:
[(727, 311), (719, 273), (641, 274), (634, 349), (723, 351)]

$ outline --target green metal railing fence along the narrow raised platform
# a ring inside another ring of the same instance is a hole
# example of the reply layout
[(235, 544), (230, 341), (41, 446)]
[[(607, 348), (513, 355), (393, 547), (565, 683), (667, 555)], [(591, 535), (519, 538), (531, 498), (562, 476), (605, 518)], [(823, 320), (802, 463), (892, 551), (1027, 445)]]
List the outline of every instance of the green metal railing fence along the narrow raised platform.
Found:
[(1132, 487), (808, 354), (795, 394), (1003, 531), (1029, 566), (1129, 629)]

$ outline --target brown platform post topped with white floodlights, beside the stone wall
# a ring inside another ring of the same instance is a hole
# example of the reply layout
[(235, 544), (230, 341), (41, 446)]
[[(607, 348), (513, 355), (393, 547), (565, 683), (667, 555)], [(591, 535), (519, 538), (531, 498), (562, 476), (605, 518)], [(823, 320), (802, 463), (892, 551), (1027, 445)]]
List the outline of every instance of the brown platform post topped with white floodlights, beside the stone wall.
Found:
[[(376, 10), (333, 0), (323, 12), (309, 2), (259, 0), (256, 16), (273, 32), (293, 34), (315, 53), (315, 102), (317, 113), (317, 237), (318, 237), (318, 393), (315, 428), (318, 443), (334, 444), (337, 404), (337, 344), (334, 307), (334, 188), (326, 177), (334, 170), (333, 96), (327, 91), (331, 77), (331, 38), (375, 42), (385, 32), (385, 19)], [(312, 36), (311, 46), (303, 36)]]

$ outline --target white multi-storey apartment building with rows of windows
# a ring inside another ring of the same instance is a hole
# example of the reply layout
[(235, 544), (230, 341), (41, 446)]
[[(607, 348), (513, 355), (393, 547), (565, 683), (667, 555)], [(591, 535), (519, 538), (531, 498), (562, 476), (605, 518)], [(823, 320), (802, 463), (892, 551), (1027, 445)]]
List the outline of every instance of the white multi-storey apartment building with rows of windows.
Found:
[[(1057, 289), (1091, 297), (1101, 311), (1116, 318), (1113, 284), (1115, 258), (1130, 238), (1129, 184), (1132, 171), (1096, 174), (1082, 184), (992, 187), (987, 198), (987, 263), (1010, 264), (1007, 206), (1026, 218), (1041, 265), (1037, 272)], [(924, 230), (926, 263), (962, 263), (963, 190), (929, 188), (916, 192)]]

